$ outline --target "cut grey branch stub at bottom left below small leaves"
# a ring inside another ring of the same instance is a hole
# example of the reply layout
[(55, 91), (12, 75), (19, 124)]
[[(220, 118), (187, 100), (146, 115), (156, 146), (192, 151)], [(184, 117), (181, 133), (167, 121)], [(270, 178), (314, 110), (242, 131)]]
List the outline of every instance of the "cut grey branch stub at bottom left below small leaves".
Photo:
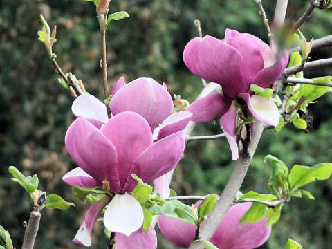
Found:
[(26, 226), (26, 231), (24, 232), (22, 249), (33, 249), (41, 216), (42, 214), (38, 211), (30, 212), (28, 225)]

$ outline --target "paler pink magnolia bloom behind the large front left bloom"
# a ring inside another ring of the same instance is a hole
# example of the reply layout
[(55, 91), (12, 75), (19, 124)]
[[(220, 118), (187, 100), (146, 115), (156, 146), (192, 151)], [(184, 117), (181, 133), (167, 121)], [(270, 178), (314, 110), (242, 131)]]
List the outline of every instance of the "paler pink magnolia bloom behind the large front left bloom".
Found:
[[(149, 123), (155, 142), (185, 129), (192, 116), (188, 111), (171, 114), (174, 104), (166, 84), (160, 85), (151, 78), (138, 78), (126, 84), (120, 77), (111, 95), (109, 106), (112, 115), (123, 111), (139, 113)], [(72, 111), (75, 116), (88, 119), (98, 128), (108, 120), (105, 105), (93, 95), (77, 97)], [(169, 176), (160, 176), (154, 181), (156, 190), (164, 199), (169, 197), (169, 181)]]

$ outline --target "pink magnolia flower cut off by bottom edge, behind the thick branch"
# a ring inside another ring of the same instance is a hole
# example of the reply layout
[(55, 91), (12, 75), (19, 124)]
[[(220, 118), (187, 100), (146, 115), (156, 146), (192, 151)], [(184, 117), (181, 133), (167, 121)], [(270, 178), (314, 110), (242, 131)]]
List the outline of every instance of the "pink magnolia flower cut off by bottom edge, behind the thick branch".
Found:
[[(199, 202), (196, 203), (196, 206)], [(219, 249), (253, 249), (268, 240), (271, 227), (266, 226), (266, 219), (255, 223), (239, 223), (251, 203), (233, 205), (212, 235), (210, 242)], [(158, 226), (163, 235), (176, 246), (188, 248), (195, 237), (196, 225), (160, 215)]]

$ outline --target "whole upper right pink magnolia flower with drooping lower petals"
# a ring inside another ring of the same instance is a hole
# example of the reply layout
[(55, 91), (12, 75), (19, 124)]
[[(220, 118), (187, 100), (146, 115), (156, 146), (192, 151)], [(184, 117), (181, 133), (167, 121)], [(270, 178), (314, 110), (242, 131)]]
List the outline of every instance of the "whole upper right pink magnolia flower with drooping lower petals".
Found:
[(192, 73), (222, 86), (222, 95), (213, 93), (196, 100), (187, 111), (193, 113), (192, 120), (196, 122), (221, 118), (233, 160), (239, 158), (236, 127), (240, 99), (246, 102), (250, 116), (277, 126), (277, 107), (268, 98), (253, 94), (250, 85), (271, 86), (282, 75), (288, 53), (277, 57), (258, 37), (227, 29), (224, 40), (212, 36), (192, 39), (185, 46), (183, 60)]

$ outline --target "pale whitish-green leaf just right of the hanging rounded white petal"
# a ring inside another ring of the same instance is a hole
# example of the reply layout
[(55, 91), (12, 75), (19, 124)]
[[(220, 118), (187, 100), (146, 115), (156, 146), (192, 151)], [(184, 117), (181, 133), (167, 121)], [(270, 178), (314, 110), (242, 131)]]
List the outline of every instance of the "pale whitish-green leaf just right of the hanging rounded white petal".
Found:
[(165, 201), (164, 206), (154, 205), (150, 209), (150, 212), (152, 215), (165, 214), (174, 219), (180, 219), (180, 220), (185, 221), (190, 224), (196, 224), (196, 222), (192, 221), (192, 218), (190, 218), (190, 221), (188, 221), (187, 219), (181, 218), (182, 216), (184, 216), (183, 212), (181, 212), (181, 211), (177, 211), (178, 213), (180, 213), (181, 217), (178, 216), (178, 214), (176, 212), (174, 212), (175, 209), (184, 210), (185, 212), (190, 214), (190, 216), (192, 216), (192, 218), (194, 218), (194, 216), (192, 215), (192, 207), (190, 207), (190, 205), (185, 205), (185, 204), (181, 203), (181, 201), (178, 201), (178, 200)]

